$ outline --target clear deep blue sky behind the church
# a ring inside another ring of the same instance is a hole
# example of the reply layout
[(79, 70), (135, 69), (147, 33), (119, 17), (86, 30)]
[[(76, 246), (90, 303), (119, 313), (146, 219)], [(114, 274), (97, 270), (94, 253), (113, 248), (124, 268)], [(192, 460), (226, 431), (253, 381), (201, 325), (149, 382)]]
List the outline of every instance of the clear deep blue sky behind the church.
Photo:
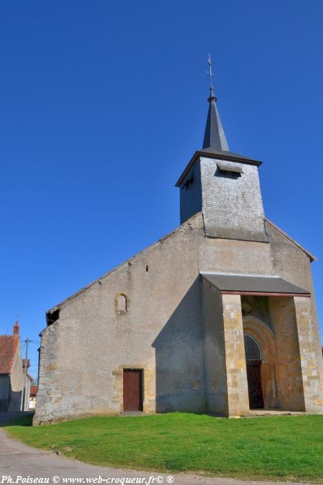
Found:
[(1, 1), (0, 333), (37, 342), (46, 309), (178, 226), (209, 51), (230, 149), (319, 258), (322, 325), (322, 44), (320, 0)]

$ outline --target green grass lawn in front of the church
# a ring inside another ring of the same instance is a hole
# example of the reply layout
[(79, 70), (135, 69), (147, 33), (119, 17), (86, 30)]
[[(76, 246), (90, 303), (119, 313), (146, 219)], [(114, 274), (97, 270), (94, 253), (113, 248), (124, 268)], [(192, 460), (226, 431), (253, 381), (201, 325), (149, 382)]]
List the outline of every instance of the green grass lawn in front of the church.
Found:
[[(98, 416), (6, 430), (37, 448), (95, 465), (323, 482), (323, 416), (221, 419), (186, 413)], [(66, 450), (71, 448), (71, 450)]]

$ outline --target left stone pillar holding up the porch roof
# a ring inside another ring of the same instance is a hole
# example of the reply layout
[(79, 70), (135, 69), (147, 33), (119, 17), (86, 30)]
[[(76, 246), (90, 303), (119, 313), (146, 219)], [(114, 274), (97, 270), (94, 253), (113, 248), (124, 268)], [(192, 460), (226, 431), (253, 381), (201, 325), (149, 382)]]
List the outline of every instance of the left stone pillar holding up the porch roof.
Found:
[(250, 411), (241, 297), (239, 294), (223, 294), (222, 303), (228, 416), (241, 416)]

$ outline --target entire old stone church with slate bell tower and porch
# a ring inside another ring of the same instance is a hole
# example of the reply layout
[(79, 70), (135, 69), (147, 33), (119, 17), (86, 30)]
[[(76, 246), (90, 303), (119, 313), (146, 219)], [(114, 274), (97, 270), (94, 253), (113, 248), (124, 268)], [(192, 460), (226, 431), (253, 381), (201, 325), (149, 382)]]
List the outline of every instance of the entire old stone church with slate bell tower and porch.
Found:
[(311, 263), (264, 215), (212, 85), (181, 225), (46, 313), (34, 423), (121, 412), (322, 412)]

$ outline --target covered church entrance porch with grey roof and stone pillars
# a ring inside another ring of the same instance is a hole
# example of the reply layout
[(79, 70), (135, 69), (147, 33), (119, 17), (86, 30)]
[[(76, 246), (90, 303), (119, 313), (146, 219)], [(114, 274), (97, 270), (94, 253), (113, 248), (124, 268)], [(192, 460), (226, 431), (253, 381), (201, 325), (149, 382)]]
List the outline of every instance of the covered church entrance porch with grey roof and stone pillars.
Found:
[(311, 293), (277, 276), (201, 276), (207, 411), (322, 412)]

